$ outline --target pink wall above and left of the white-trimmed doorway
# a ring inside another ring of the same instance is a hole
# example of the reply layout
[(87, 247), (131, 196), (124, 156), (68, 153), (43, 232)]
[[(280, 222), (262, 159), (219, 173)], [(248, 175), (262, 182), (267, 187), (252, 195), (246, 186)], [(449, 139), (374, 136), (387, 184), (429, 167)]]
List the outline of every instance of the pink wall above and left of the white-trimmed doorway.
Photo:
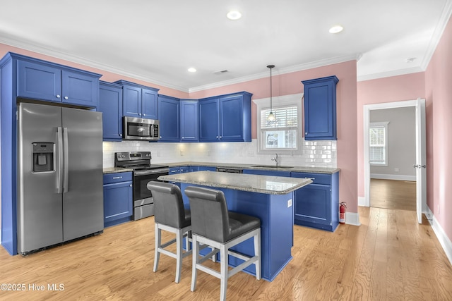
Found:
[(358, 196), (364, 197), (364, 132), (365, 104), (400, 102), (425, 97), (424, 73), (365, 80), (357, 83)]

